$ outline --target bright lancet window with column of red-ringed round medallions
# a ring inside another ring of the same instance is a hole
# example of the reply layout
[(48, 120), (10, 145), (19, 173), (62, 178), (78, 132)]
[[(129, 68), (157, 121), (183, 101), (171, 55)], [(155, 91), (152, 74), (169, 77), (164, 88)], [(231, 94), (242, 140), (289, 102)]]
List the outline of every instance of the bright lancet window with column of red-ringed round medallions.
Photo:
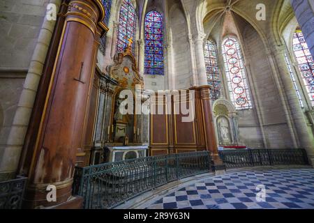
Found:
[(223, 61), (230, 98), (236, 109), (251, 109), (252, 102), (239, 42), (233, 37), (223, 40)]

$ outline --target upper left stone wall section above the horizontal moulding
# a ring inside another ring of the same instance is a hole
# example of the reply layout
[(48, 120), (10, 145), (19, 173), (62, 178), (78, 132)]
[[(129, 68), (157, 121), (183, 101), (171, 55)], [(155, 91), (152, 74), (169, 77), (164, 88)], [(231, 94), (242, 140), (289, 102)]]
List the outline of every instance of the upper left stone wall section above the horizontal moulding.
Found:
[(48, 0), (0, 2), (0, 67), (28, 68)]

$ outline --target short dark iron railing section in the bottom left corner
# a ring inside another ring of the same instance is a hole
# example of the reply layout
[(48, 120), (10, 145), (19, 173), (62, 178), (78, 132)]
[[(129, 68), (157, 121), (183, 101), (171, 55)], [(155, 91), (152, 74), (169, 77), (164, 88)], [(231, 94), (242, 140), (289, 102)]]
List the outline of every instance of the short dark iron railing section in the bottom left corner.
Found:
[(0, 182), (0, 209), (20, 209), (27, 183), (27, 178)]

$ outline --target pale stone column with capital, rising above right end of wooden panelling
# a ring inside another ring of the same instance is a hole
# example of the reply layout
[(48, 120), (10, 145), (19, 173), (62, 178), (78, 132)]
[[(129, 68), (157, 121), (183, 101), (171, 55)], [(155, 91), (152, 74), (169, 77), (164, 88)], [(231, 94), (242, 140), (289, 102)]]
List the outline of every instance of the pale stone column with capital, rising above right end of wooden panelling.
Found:
[(197, 33), (194, 38), (195, 45), (195, 59), (197, 66), (197, 85), (207, 85), (207, 74), (206, 66), (204, 59), (204, 38), (206, 37), (205, 33)]

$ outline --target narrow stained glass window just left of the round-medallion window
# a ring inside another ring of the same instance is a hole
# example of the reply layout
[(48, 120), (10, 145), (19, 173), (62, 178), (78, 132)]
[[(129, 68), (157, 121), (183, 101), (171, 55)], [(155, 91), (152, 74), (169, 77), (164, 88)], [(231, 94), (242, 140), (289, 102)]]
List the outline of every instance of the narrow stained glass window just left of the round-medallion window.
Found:
[(211, 40), (207, 40), (204, 49), (207, 81), (211, 89), (211, 99), (220, 98), (220, 80), (218, 72), (217, 47)]

